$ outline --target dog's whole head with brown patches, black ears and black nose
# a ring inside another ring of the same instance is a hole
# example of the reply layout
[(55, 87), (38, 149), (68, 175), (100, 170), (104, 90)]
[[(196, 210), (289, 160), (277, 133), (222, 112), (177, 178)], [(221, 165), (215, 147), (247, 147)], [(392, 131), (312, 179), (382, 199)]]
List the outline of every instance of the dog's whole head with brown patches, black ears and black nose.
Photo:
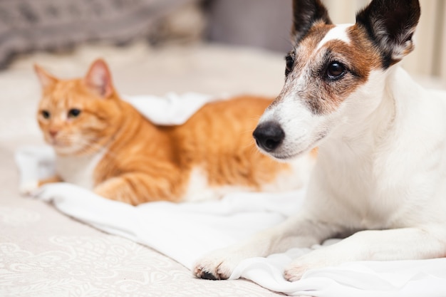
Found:
[(373, 0), (356, 24), (338, 26), (320, 0), (294, 0), (293, 12), (284, 88), (254, 130), (260, 150), (278, 160), (308, 152), (378, 107), (383, 74), (413, 51), (420, 5)]

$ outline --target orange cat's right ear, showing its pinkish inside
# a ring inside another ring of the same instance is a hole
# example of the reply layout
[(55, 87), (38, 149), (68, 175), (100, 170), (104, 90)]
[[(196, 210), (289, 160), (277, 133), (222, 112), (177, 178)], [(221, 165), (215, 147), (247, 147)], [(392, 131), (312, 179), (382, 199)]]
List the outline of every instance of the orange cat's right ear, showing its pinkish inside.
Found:
[(110, 70), (103, 59), (98, 59), (91, 64), (84, 82), (90, 90), (102, 98), (108, 98), (113, 94)]

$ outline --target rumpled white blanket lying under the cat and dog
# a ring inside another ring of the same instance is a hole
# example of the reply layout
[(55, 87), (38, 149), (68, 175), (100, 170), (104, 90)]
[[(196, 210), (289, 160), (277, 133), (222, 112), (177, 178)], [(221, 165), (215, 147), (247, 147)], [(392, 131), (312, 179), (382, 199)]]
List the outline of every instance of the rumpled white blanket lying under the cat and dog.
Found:
[[(195, 109), (212, 99), (191, 96), (187, 97), (187, 102), (193, 100)], [(190, 104), (183, 109), (181, 105), (185, 101), (175, 96), (171, 98), (175, 99), (167, 105), (160, 101), (157, 111), (150, 100), (144, 104), (143, 97), (136, 98), (139, 102), (136, 106), (142, 113), (150, 110), (157, 116), (172, 115), (170, 119), (160, 118), (158, 123), (167, 125), (174, 120), (175, 124), (180, 124), (178, 118), (187, 120), (195, 110)], [(130, 102), (132, 99), (128, 98)], [(177, 114), (180, 110), (187, 110), (188, 115), (180, 117)], [(16, 152), (16, 162), (21, 184), (53, 174), (54, 155), (50, 147), (23, 147)], [(239, 193), (218, 202), (151, 202), (133, 207), (99, 197), (73, 184), (58, 183), (42, 187), (35, 197), (52, 202), (61, 212), (95, 228), (157, 249), (192, 269), (202, 254), (282, 222), (299, 209), (304, 194), (304, 190), (284, 194)], [(331, 244), (331, 241), (324, 244)], [(348, 263), (308, 271), (301, 281), (286, 281), (282, 276), (284, 267), (308, 251), (311, 249), (291, 249), (267, 258), (247, 259), (235, 269), (231, 278), (247, 278), (272, 291), (293, 296), (446, 296), (446, 259)]]

